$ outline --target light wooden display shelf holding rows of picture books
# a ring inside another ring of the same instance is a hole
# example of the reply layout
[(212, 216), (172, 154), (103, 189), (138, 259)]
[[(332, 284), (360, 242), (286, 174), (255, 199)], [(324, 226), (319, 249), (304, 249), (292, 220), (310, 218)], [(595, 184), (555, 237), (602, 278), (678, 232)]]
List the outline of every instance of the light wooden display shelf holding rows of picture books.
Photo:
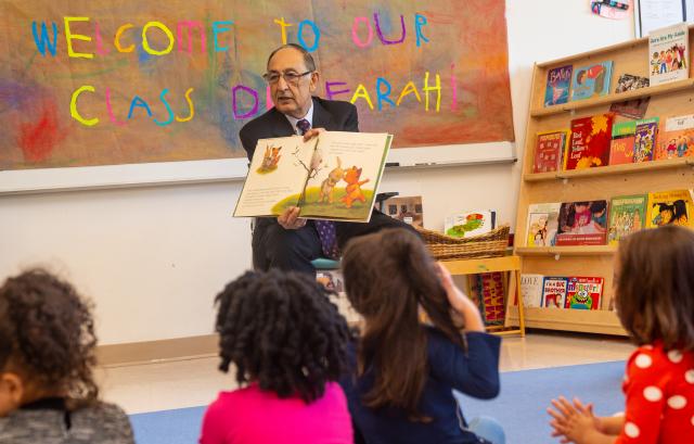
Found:
[[(692, 27), (689, 48), (692, 48)], [(591, 99), (544, 105), (548, 72), (573, 65), (612, 61), (609, 92)], [(694, 78), (615, 93), (622, 74), (648, 77), (648, 39), (635, 39), (594, 51), (535, 65), (530, 109), (525, 138), (523, 175), (518, 198), (514, 253), (523, 258), (523, 274), (544, 276), (596, 276), (604, 278), (603, 295), (596, 310), (536, 308), (525, 310), (525, 325), (565, 331), (624, 335), (614, 307), (613, 264), (616, 245), (528, 246), (527, 225), (530, 204), (609, 200), (614, 196), (646, 194), (654, 191), (694, 188), (694, 157), (644, 163), (597, 166), (586, 169), (532, 173), (538, 132), (570, 128), (576, 118), (609, 112), (611, 104), (650, 98), (644, 118), (694, 114)], [(687, 63), (691, 58), (687, 55)], [(693, 71), (690, 68), (690, 73)], [(615, 122), (626, 122), (617, 115)], [(513, 308), (512, 308), (513, 309)], [(511, 314), (514, 319), (513, 313)]]

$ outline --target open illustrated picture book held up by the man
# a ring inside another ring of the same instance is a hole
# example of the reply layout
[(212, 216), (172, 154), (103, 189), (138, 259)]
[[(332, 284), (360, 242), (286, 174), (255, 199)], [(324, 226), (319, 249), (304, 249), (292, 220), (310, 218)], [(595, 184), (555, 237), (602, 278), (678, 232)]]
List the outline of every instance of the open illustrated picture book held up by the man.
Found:
[(369, 221), (391, 135), (323, 131), (258, 140), (235, 217), (279, 216), (298, 206), (311, 219)]

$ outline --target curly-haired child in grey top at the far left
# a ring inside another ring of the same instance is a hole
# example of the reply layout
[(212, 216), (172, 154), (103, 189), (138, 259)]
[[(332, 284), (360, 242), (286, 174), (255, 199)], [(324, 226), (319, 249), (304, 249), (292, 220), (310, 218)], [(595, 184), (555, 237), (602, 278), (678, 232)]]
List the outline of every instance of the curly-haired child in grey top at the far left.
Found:
[(98, 401), (94, 322), (67, 282), (34, 269), (0, 288), (0, 442), (132, 443), (125, 413)]

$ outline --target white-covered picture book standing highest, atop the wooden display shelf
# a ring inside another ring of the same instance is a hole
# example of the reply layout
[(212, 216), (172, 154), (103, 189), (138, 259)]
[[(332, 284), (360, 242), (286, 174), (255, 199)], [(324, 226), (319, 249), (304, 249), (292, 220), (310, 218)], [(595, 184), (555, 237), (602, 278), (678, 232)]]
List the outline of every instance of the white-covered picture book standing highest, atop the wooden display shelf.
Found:
[(689, 27), (682, 23), (648, 34), (651, 86), (684, 80), (690, 76)]

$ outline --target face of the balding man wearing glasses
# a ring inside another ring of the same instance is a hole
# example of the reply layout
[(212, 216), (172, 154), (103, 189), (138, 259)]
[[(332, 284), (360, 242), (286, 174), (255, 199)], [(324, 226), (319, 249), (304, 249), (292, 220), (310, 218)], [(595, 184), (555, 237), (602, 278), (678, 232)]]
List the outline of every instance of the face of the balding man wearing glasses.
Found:
[[(268, 73), (304, 74), (308, 71), (304, 63), (304, 55), (293, 48), (278, 51), (268, 63)], [(311, 107), (311, 93), (316, 91), (319, 74), (313, 72), (297, 78), (296, 84), (287, 83), (280, 76), (279, 80), (270, 84), (270, 93), (274, 106), (282, 114), (301, 118)]]

